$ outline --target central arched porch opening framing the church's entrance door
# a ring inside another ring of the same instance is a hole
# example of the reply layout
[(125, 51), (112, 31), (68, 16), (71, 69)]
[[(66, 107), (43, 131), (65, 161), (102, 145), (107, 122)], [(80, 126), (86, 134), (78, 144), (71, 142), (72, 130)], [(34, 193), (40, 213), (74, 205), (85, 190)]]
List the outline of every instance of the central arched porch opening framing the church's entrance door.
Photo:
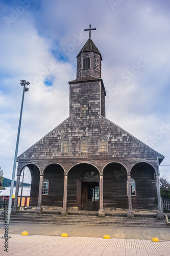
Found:
[(87, 163), (75, 165), (68, 173), (67, 205), (79, 210), (99, 210), (99, 170)]

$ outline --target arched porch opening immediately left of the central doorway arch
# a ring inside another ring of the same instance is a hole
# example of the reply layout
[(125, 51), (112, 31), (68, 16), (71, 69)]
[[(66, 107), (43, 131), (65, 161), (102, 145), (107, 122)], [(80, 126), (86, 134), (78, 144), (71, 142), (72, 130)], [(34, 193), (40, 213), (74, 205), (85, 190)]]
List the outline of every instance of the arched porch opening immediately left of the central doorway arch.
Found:
[(44, 170), (43, 180), (44, 191), (42, 188), (42, 205), (48, 206), (63, 206), (63, 191), (64, 191), (64, 169), (59, 164), (50, 164)]

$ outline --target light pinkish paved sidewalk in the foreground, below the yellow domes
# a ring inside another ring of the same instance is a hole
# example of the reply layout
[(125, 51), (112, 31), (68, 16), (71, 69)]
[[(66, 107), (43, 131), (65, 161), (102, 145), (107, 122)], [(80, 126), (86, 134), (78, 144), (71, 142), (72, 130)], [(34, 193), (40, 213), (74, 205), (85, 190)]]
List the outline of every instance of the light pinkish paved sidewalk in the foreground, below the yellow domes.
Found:
[[(3, 234), (1, 233), (2, 237)], [(170, 241), (151, 242), (151, 240), (109, 239), (57, 236), (21, 236), (12, 234), (8, 239), (8, 252), (0, 240), (1, 255), (82, 255), (82, 256), (147, 256), (170, 255)]]

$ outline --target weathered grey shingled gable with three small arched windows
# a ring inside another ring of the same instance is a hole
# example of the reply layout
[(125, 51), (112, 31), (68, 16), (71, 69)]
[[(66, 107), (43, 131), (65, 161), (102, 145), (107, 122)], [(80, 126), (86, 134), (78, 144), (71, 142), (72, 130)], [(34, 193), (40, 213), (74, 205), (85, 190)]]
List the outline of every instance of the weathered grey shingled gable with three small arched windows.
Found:
[[(82, 148), (82, 138), (85, 140), (86, 150)], [(101, 141), (104, 141), (103, 145)], [(18, 159), (101, 157), (163, 158), (162, 155), (103, 116), (98, 118), (90, 116), (88, 119), (87, 117), (67, 118)]]

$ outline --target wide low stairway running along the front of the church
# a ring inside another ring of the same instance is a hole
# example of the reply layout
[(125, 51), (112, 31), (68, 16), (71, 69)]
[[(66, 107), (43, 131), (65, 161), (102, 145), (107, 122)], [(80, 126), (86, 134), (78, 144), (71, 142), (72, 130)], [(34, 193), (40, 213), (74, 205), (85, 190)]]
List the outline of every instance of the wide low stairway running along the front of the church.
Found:
[[(0, 222), (3, 223), (3, 213), (0, 215)], [(11, 223), (43, 223), (43, 224), (68, 224), (68, 225), (104, 225), (104, 226), (124, 226), (124, 227), (157, 227), (169, 228), (165, 219), (157, 220), (156, 215), (135, 215), (133, 219), (127, 219), (124, 214), (116, 216), (98, 217), (95, 212), (88, 215), (67, 215), (61, 216), (59, 213), (40, 215), (30, 212), (17, 212), (12, 214)]]

